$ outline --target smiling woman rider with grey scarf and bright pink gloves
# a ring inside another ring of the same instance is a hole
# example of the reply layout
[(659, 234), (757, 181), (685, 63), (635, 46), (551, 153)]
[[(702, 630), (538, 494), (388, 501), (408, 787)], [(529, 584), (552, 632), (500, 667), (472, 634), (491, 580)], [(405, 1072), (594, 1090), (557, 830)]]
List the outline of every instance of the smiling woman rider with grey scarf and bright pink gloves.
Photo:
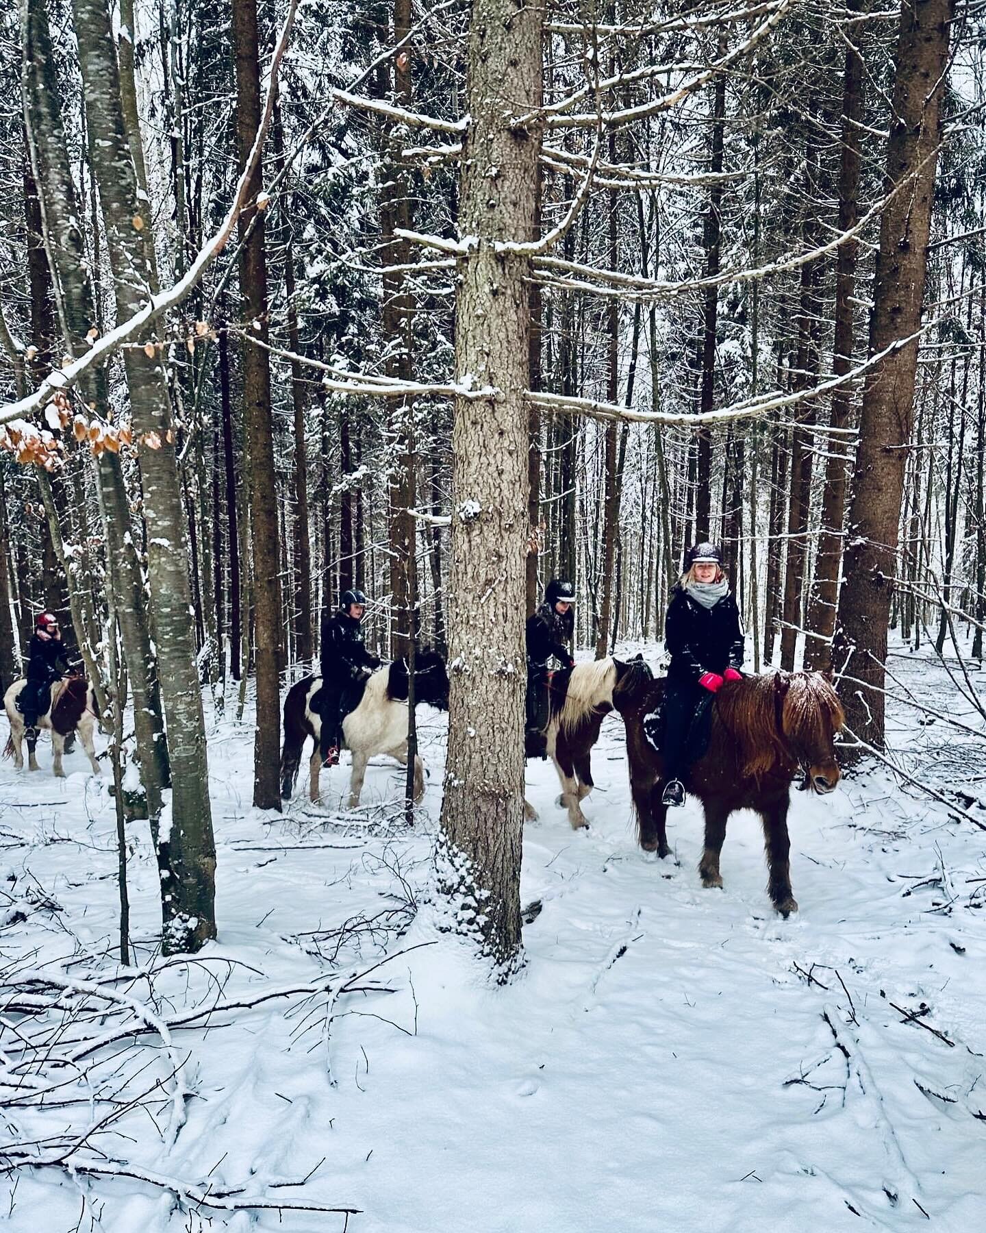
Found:
[[(674, 588), (664, 618), (664, 647), (670, 653), (664, 690), (664, 731), (659, 741), (664, 760), (664, 805), (684, 805), (682, 779), (688, 771), (688, 740), (701, 698), (715, 694), (723, 681), (740, 681), (743, 663), (743, 625), (740, 609), (722, 572), (722, 552), (715, 544), (693, 545), (685, 554), (685, 572)], [(656, 716), (648, 716), (656, 720)], [(653, 723), (645, 731), (654, 740)]]

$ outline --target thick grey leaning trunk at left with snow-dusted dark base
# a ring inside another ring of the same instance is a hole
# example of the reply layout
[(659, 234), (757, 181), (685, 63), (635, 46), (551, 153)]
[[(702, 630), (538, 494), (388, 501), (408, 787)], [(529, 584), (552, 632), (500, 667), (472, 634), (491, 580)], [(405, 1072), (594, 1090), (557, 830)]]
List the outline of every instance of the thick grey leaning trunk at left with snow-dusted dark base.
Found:
[[(92, 170), (100, 190), (117, 317), (147, 302), (144, 231), (147, 199), (139, 195), (120, 99), (116, 47), (105, 0), (73, 0), (83, 72)], [(165, 953), (197, 951), (216, 936), (216, 847), (208, 799), (202, 695), (189, 621), (189, 541), (175, 457), (175, 430), (159, 349), (124, 353), (131, 413), (144, 493), (148, 567), (161, 699), (171, 758), (171, 816), (161, 830), (169, 877), (161, 883)]]

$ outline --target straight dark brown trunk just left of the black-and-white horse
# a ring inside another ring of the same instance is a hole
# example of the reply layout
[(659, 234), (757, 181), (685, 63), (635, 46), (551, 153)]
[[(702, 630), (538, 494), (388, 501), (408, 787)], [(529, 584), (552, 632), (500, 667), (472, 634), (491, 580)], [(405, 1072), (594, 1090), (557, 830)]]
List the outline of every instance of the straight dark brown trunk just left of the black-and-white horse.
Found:
[[(239, 170), (246, 166), (260, 128), (260, 51), (256, 0), (233, 0), (233, 48), (237, 60), (237, 149)], [(246, 187), (246, 208), (239, 216), (239, 287), (251, 335), (267, 342), (267, 264), (264, 218), (256, 210), (263, 180), (261, 160)], [(281, 587), (277, 562), (277, 476), (274, 469), (274, 424), (270, 406), (270, 354), (249, 343), (243, 350), (243, 404), (250, 449), (250, 529), (254, 563), (256, 630), (256, 739), (254, 741), (254, 805), (279, 809), (281, 788), (279, 663), (281, 647)]]

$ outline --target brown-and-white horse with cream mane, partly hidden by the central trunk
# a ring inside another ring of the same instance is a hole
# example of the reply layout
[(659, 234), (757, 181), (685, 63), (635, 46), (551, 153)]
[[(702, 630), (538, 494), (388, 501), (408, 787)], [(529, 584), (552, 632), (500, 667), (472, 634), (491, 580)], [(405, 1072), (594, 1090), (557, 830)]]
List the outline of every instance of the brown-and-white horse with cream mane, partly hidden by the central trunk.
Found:
[[(592, 747), (599, 740), (603, 720), (613, 710), (614, 690), (637, 662), (641, 662), (640, 656), (629, 662), (606, 656), (552, 673), (551, 719), (545, 736), (562, 785), (558, 804), (568, 810), (572, 830), (589, 825), (582, 813), (582, 801), (594, 787)], [(528, 757), (535, 756), (528, 751)], [(524, 816), (529, 821), (537, 817), (526, 800)]]

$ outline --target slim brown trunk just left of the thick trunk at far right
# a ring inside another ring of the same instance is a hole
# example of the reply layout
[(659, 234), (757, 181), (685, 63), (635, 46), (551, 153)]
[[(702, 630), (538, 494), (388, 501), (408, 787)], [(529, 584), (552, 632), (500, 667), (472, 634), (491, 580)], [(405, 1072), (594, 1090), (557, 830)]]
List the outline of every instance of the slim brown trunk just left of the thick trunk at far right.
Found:
[[(848, 0), (850, 12), (859, 10), (860, 0)], [(860, 129), (863, 116), (863, 57), (854, 42), (845, 52), (845, 78), (842, 92), (842, 157), (839, 163), (841, 232), (850, 231), (859, 217)], [(836, 259), (836, 339), (832, 367), (837, 376), (848, 372), (853, 364), (853, 297), (855, 296), (855, 256), (859, 243), (847, 239), (839, 244)], [(832, 428), (847, 428), (852, 413), (853, 392), (839, 386), (832, 395)], [(842, 565), (842, 524), (845, 515), (845, 440), (836, 433), (828, 439), (825, 492), (822, 494), (822, 525), (815, 578), (809, 597), (805, 625), (805, 667), (832, 666), (832, 630), (836, 625), (839, 567)]]

